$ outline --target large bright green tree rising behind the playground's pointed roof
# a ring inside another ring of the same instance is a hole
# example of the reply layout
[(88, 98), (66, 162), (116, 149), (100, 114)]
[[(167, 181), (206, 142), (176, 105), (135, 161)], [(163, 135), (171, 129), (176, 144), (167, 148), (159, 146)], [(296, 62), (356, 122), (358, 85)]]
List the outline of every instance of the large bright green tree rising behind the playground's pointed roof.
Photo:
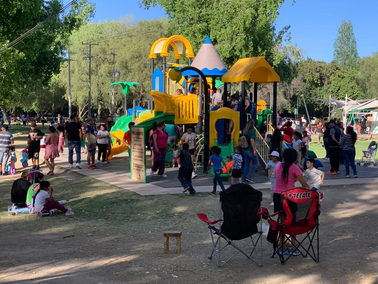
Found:
[[(290, 81), (292, 70), (283, 66), (299, 59), (301, 52), (290, 42), (290, 26), (276, 31), (274, 22), (283, 2), (229, 0), (213, 5), (215, 2), (209, 4), (206, 0), (141, 0), (141, 5), (146, 9), (163, 7), (171, 19), (167, 35), (186, 37), (194, 53), (210, 36), (226, 68), (240, 58), (263, 56), (277, 69), (282, 81)], [(288, 46), (283, 48), (285, 41)]]

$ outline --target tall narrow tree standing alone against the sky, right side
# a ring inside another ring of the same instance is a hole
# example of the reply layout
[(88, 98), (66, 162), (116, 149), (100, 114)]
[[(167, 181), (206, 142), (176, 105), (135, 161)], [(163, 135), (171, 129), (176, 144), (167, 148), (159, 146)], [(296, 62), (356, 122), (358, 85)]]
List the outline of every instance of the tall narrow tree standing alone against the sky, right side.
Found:
[(335, 60), (344, 69), (355, 69), (357, 67), (358, 53), (356, 37), (353, 33), (353, 25), (343, 20), (339, 27), (338, 37), (336, 38), (333, 48), (333, 60)]

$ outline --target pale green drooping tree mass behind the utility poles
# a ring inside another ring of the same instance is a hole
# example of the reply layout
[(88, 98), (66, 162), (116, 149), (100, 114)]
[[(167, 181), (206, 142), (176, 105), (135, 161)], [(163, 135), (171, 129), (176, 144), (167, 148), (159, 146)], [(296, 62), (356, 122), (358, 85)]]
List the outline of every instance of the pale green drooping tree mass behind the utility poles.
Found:
[[(130, 108), (133, 99), (138, 105), (147, 105), (150, 98), (150, 59), (148, 58), (151, 45), (156, 39), (163, 37), (167, 31), (167, 19), (140, 20), (136, 22), (132, 15), (121, 20), (88, 23), (70, 36), (71, 51), (71, 94), (72, 104), (77, 106), (79, 114), (84, 116), (88, 109), (88, 45), (82, 41), (91, 41), (99, 45), (92, 46), (91, 64), (91, 109), (99, 116), (110, 113), (112, 91), (112, 60), (110, 53), (115, 48), (115, 69), (121, 72), (115, 81), (136, 81), (140, 85), (131, 88), (127, 95)], [(114, 34), (119, 34), (114, 36)], [(169, 57), (168, 62), (173, 59)], [(161, 67), (161, 58), (155, 60), (155, 68)], [(64, 64), (59, 76), (61, 84), (68, 89), (68, 68)], [(115, 112), (121, 114), (124, 95), (121, 86), (115, 86)], [(65, 98), (68, 97), (68, 92)]]

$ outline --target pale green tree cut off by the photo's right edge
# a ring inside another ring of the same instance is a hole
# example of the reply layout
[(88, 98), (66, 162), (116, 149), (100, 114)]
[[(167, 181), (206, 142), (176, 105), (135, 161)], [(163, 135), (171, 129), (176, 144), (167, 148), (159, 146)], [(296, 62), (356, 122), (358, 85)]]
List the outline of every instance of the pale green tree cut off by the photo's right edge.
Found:
[(378, 94), (378, 53), (366, 56), (359, 61), (356, 82), (366, 98), (376, 98)]

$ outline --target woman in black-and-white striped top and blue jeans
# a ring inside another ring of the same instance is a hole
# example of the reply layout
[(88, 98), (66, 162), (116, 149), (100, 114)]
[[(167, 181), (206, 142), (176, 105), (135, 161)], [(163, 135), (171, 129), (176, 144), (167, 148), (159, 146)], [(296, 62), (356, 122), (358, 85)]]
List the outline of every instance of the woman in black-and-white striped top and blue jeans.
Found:
[(357, 134), (353, 131), (353, 127), (347, 126), (347, 128), (345, 129), (345, 135), (342, 136), (340, 139), (340, 145), (342, 147), (342, 155), (344, 156), (344, 165), (345, 165), (345, 171), (346, 171), (344, 176), (347, 178), (350, 177), (349, 164), (352, 166), (354, 177), (358, 178), (356, 163), (355, 163), (356, 140), (357, 140)]

